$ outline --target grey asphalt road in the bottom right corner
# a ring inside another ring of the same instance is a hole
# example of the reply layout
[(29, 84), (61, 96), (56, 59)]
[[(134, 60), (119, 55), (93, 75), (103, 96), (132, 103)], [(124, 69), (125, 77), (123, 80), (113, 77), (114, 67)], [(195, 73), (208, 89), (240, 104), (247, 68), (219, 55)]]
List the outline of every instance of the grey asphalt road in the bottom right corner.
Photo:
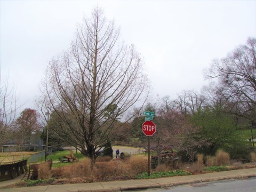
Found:
[[(214, 182), (202, 182), (194, 183), (191, 185), (183, 185), (177, 187), (168, 188), (157, 188), (157, 189), (147, 189), (139, 190), (147, 192), (157, 192), (157, 191), (171, 191), (171, 192), (255, 192), (256, 191), (256, 177), (251, 177), (248, 179), (235, 179), (235, 180), (222, 180)], [(137, 190), (138, 192), (138, 190)]]

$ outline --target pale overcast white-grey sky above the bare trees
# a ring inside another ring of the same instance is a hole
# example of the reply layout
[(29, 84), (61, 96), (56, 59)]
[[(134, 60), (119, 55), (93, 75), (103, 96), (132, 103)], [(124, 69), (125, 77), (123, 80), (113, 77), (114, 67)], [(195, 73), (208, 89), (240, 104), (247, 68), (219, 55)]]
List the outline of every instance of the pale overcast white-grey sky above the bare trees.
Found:
[(152, 93), (172, 99), (205, 85), (203, 69), (256, 37), (256, 1), (0, 0), (2, 76), (34, 108), (52, 57), (69, 48), (77, 23), (99, 5), (145, 61)]

